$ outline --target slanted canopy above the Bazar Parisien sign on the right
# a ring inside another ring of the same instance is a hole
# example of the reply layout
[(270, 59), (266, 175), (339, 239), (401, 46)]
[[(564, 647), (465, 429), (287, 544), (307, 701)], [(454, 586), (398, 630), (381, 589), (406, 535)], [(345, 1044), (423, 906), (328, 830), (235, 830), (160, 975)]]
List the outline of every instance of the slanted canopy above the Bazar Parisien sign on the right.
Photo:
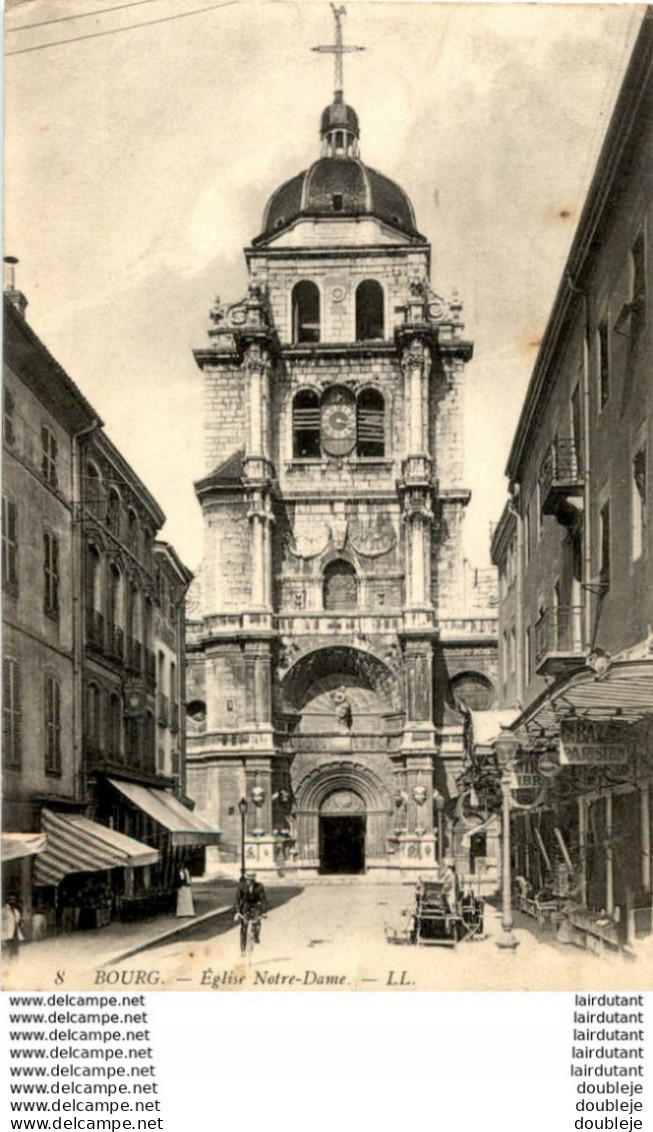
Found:
[(557, 737), (565, 715), (627, 723), (653, 715), (653, 659), (613, 661), (601, 677), (586, 670), (568, 676), (530, 704), (512, 730), (545, 743)]

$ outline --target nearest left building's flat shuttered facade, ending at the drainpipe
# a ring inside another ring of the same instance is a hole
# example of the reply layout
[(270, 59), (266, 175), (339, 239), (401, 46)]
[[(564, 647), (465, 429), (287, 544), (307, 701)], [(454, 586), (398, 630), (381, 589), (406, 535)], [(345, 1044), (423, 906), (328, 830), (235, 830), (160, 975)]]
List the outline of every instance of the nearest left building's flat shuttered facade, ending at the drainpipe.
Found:
[[(3, 295), (2, 827), (32, 833), (43, 806), (75, 808), (83, 797), (70, 564), (76, 449), (96, 418), (27, 325), (25, 307), (11, 281)], [(31, 855), (17, 855), (5, 880), (28, 915)]]

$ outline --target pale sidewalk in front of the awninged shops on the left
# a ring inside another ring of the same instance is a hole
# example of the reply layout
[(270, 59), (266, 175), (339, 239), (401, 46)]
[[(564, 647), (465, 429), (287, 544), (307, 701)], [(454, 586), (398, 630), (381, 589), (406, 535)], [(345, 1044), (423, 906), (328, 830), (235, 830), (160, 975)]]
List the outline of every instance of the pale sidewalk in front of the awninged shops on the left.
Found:
[(233, 904), (234, 889), (233, 881), (218, 877), (194, 881), (194, 917), (178, 919), (171, 915), (153, 916), (130, 924), (113, 921), (94, 931), (50, 936), (36, 943), (23, 944), (19, 962), (25, 966), (34, 963), (41, 970), (61, 968), (66, 962), (76, 967), (103, 967), (126, 959), (160, 940), (172, 940), (201, 920), (229, 911)]

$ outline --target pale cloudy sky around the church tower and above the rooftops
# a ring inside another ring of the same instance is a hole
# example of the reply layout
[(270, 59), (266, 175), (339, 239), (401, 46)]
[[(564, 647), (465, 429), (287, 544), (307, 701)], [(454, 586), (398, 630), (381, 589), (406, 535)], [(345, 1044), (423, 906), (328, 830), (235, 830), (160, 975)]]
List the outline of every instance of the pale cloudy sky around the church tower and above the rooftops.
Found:
[[(345, 42), (366, 48), (345, 57), (362, 158), (409, 194), (432, 285), (458, 290), (474, 341), (465, 550), (484, 566), (644, 9), (346, 9)], [(243, 293), (242, 248), (268, 197), (319, 155), (333, 60), (310, 49), (333, 35), (328, 5), (307, 0), (18, 0), (6, 12), (5, 254), (19, 258), (31, 326), (163, 507), (162, 537), (190, 568), (205, 471), (192, 349), (207, 343), (215, 295)]]

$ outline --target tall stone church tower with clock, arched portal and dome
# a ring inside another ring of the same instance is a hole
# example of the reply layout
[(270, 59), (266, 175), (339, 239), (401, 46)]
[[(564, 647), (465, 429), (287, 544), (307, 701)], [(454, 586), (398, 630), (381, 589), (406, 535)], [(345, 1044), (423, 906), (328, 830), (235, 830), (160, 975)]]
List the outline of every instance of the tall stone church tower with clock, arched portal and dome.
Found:
[(455, 807), (458, 701), (492, 706), (497, 651), (461, 544), (472, 343), (336, 85), (318, 160), (273, 192), (247, 294), (216, 303), (195, 354), (188, 791), (222, 861), (239, 860), (244, 798), (257, 869), (423, 873), (445, 851), (491, 869), (493, 839), (464, 839)]

